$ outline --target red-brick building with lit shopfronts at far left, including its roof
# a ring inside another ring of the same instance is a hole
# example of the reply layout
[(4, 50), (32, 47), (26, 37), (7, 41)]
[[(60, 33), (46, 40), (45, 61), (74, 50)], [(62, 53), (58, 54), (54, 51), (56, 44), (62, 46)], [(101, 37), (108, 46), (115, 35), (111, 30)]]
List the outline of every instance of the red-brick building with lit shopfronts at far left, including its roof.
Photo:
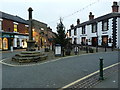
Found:
[(28, 21), (0, 11), (0, 49), (26, 48)]

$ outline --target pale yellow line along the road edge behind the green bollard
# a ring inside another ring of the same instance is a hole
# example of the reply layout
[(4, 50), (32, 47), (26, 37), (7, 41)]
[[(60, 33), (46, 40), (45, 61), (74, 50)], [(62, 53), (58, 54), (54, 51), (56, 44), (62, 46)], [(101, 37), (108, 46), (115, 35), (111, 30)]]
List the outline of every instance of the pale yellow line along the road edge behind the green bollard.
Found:
[[(106, 69), (111, 68), (111, 67), (113, 67), (113, 66), (116, 66), (116, 65), (118, 65), (118, 64), (120, 64), (120, 62), (115, 63), (115, 64), (113, 64), (113, 65), (110, 65), (110, 66), (108, 66), (108, 67), (105, 67), (105, 68), (103, 68), (103, 70), (106, 70)], [(81, 79), (78, 79), (78, 80), (76, 80), (76, 81), (74, 81), (74, 82), (72, 82), (72, 83), (70, 83), (70, 84), (62, 87), (62, 88), (60, 88), (59, 90), (63, 90), (63, 89), (65, 89), (65, 88), (68, 88), (68, 87), (70, 87), (70, 86), (72, 86), (72, 85), (74, 85), (74, 84), (76, 84), (76, 83), (78, 83), (78, 82), (80, 82), (80, 81), (88, 78), (88, 77), (91, 77), (91, 76), (94, 75), (94, 74), (97, 74), (98, 72), (99, 72), (99, 70), (97, 70), (97, 71), (95, 71), (95, 72), (93, 72), (93, 73), (91, 73), (91, 74), (89, 74), (89, 75), (87, 75), (87, 76), (85, 76), (85, 77), (83, 77), (83, 78), (81, 78)]]

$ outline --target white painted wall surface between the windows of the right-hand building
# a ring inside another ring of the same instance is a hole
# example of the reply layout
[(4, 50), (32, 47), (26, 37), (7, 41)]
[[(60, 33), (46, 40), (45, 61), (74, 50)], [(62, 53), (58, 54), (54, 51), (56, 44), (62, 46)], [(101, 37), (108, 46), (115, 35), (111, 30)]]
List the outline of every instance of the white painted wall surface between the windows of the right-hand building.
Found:
[[(113, 18), (109, 19), (108, 23), (108, 31), (102, 31), (102, 21), (97, 24), (97, 33), (98, 33), (98, 45), (102, 44), (102, 36), (108, 35), (109, 38), (112, 39), (112, 22)], [(120, 18), (117, 19), (117, 46), (120, 47)], [(118, 35), (119, 34), (119, 35)], [(118, 37), (119, 36), (119, 37)], [(74, 36), (74, 29), (71, 30), (72, 43), (74, 42), (74, 38), (77, 37), (77, 44), (81, 44), (81, 38), (86, 37), (86, 39), (90, 39), (88, 45), (92, 45), (92, 37), (97, 37), (96, 33), (92, 33), (92, 25), (86, 25), (86, 34), (82, 34), (82, 27), (77, 28), (77, 36)], [(108, 46), (112, 46), (112, 43), (108, 42)]]

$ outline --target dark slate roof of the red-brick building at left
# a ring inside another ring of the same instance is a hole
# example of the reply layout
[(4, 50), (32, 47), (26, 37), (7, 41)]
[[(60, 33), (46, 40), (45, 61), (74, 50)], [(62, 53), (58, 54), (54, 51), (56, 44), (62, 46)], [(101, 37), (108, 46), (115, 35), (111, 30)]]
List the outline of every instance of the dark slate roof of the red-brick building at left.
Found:
[(7, 13), (4, 13), (4, 12), (1, 12), (0, 11), (0, 18), (2, 19), (8, 19), (8, 20), (12, 20), (12, 21), (15, 21), (15, 22), (19, 22), (19, 23), (23, 23), (23, 24), (29, 24), (29, 22), (19, 16), (14, 16), (14, 15), (10, 15), (10, 14), (7, 14)]

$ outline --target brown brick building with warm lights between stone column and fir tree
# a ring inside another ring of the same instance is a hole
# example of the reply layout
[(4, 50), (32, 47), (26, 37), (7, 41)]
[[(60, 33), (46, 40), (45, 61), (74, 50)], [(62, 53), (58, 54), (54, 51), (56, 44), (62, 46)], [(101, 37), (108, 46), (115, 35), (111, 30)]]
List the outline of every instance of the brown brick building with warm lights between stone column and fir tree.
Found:
[(33, 19), (32, 28), (33, 39), (36, 41), (36, 46), (43, 48), (52, 45), (54, 33), (50, 27), (47, 27), (46, 23)]

